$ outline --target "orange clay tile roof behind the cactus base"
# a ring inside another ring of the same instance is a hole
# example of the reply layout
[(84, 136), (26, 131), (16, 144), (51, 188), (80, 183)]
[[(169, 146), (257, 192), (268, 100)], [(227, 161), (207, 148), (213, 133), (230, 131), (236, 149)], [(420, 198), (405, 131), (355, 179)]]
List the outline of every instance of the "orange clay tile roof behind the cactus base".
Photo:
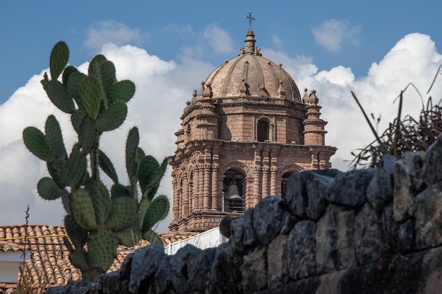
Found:
[[(159, 233), (165, 245), (184, 240), (197, 233)], [(0, 252), (8, 250), (29, 250), (30, 258), (22, 266), (23, 276), (30, 278), (33, 285), (64, 285), (68, 280), (79, 280), (81, 272), (73, 267), (68, 258), (68, 249), (64, 245), (66, 235), (64, 226), (47, 225), (13, 225), (0, 226)], [(143, 245), (142, 241), (135, 247), (120, 246), (117, 258), (109, 271), (120, 268), (126, 255)], [(18, 273), (20, 276), (20, 272)], [(16, 284), (0, 283), (0, 293), (10, 293)]]

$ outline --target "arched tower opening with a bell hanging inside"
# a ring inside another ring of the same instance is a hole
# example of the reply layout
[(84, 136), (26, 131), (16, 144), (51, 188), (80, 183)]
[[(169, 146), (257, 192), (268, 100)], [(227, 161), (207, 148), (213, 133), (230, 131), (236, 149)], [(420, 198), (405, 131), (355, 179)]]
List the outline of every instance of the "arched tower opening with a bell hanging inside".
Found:
[(242, 171), (229, 169), (222, 181), (223, 210), (225, 212), (244, 212), (246, 176)]

